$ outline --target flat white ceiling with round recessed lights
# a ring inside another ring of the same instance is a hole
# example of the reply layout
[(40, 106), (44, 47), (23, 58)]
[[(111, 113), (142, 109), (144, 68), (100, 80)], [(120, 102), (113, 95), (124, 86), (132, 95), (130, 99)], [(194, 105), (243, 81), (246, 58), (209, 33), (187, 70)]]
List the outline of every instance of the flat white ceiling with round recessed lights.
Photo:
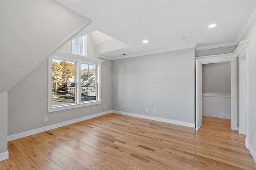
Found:
[[(102, 53), (109, 59), (196, 44), (198, 49), (236, 45), (256, 13), (256, 0), (56, 1), (92, 20), (81, 34), (99, 30), (130, 45)], [(217, 27), (208, 28), (211, 23), (217, 23)], [(148, 44), (142, 43), (144, 39), (148, 39)]]

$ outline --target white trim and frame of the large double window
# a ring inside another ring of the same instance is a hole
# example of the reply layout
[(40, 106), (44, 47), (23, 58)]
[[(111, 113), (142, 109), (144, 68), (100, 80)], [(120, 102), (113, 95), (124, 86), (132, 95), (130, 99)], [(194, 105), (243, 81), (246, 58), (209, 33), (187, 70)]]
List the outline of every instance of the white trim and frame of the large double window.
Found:
[[(70, 105), (64, 105), (64, 106), (55, 106), (52, 107), (52, 57), (54, 58), (60, 58), (60, 59), (67, 59), (70, 61), (76, 61), (77, 64), (77, 70), (76, 71), (76, 77), (77, 77), (77, 84), (78, 88), (76, 88), (76, 94), (80, 94), (79, 90), (81, 90), (81, 86), (79, 86), (79, 83), (81, 81), (81, 74), (80, 71), (80, 65), (81, 63), (87, 63), (87, 64), (94, 64), (97, 65), (97, 81), (98, 81), (98, 87), (97, 87), (97, 101), (91, 101), (91, 102), (81, 102), (80, 95), (76, 95), (76, 104), (70, 104)], [(51, 57), (48, 58), (48, 113), (54, 112), (54, 111), (60, 111), (60, 110), (66, 110), (66, 109), (73, 109), (77, 107), (84, 107), (84, 106), (91, 106), (95, 104), (101, 104), (101, 64), (104, 60), (100, 59), (94, 59), (91, 57), (86, 57), (84, 55), (78, 55), (73, 53), (67, 53), (64, 51), (56, 51)]]

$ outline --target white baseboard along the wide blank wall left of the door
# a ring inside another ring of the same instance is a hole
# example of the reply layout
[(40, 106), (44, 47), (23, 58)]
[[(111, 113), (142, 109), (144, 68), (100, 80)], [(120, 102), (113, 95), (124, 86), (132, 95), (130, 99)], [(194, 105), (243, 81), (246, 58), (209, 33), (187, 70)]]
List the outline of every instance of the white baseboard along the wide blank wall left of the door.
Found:
[(159, 117), (139, 115), (139, 114), (127, 113), (127, 112), (124, 112), (124, 111), (117, 111), (117, 110), (112, 110), (112, 112), (113, 113), (118, 113), (118, 114), (121, 114), (121, 115), (128, 115), (128, 116), (139, 117), (139, 118), (143, 118), (143, 119), (162, 121), (162, 122), (166, 122), (166, 123), (172, 123), (172, 124), (176, 124), (176, 125), (182, 125), (182, 126), (187, 126), (187, 127), (195, 128), (195, 124), (194, 123), (188, 123), (188, 122), (184, 122), (184, 121), (176, 121), (176, 120), (164, 119), (164, 118), (159, 118)]

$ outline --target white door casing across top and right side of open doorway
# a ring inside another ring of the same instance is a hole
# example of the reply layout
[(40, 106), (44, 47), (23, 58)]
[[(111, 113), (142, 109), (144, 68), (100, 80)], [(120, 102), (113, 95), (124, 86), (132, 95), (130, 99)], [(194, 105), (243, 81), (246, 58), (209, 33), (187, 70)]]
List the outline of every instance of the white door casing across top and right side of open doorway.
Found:
[(230, 84), (231, 84), (231, 129), (238, 130), (237, 126), (237, 82), (236, 82), (236, 57), (237, 55), (234, 53), (229, 54), (221, 54), (221, 55), (209, 55), (196, 57), (196, 60), (201, 61), (202, 64), (210, 64), (210, 63), (224, 63), (230, 62)]

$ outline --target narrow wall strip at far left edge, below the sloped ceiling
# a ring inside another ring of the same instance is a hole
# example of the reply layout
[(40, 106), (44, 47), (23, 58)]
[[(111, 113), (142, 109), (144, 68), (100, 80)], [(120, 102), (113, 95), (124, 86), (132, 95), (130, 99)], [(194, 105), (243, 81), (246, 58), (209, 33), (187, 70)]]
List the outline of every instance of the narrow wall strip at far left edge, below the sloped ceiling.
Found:
[(0, 94), (0, 161), (8, 158), (7, 150), (7, 113), (8, 94)]

